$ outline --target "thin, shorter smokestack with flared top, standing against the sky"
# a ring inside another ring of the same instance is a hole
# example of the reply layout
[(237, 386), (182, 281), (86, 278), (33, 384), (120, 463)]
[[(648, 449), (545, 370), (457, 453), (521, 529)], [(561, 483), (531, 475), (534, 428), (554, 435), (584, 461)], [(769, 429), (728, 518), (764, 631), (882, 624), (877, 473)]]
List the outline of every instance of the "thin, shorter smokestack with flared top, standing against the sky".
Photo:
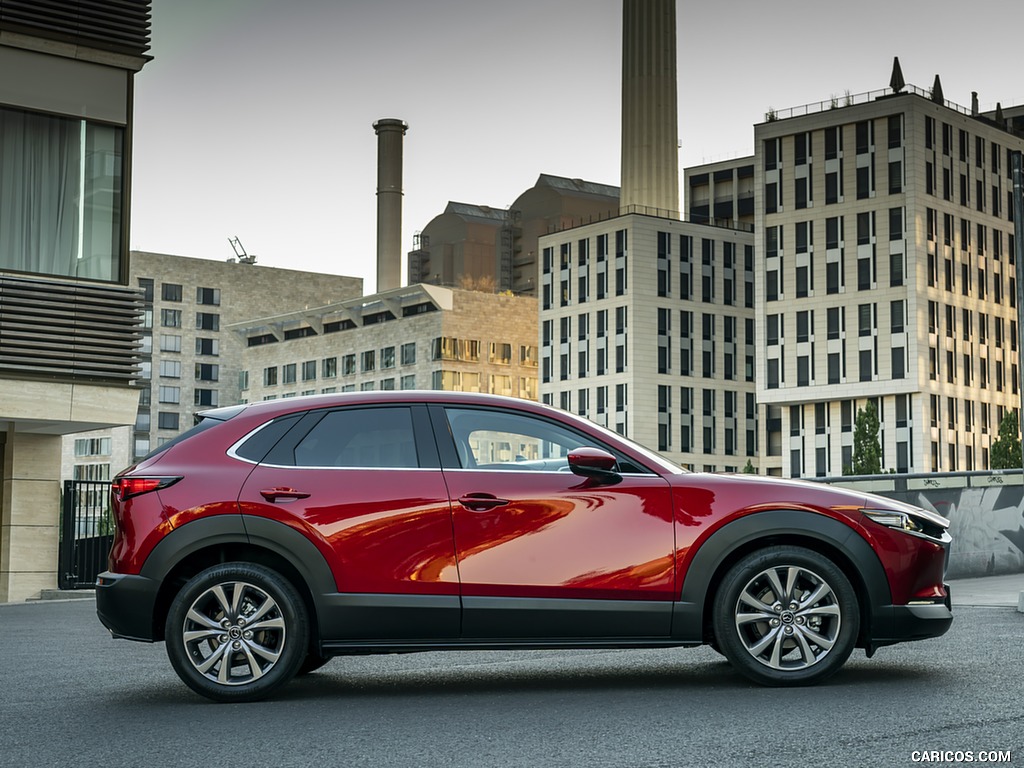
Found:
[(409, 125), (385, 118), (377, 134), (377, 291), (401, 286), (401, 145)]

